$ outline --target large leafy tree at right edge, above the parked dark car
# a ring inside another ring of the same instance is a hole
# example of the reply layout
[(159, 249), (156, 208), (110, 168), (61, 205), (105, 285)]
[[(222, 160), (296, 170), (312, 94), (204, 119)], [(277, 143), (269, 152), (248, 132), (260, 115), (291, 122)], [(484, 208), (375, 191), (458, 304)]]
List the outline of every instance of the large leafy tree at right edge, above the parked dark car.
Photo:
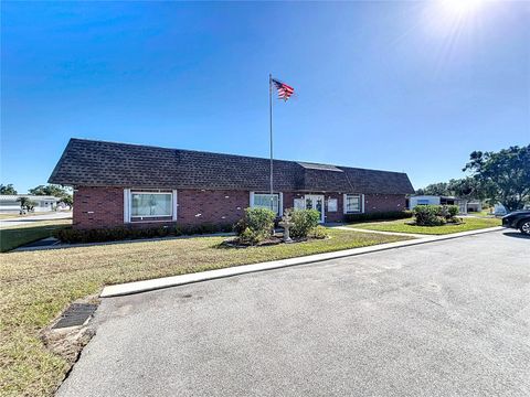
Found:
[(510, 212), (530, 202), (530, 144), (499, 152), (474, 151), (463, 171), (471, 171), (485, 194)]

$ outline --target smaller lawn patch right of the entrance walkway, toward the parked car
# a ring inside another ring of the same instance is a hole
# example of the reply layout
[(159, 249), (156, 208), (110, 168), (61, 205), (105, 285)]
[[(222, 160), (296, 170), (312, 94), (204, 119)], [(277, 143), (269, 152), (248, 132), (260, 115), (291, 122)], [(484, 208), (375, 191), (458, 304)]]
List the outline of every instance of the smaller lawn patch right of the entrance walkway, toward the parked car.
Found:
[(413, 219), (398, 219), (385, 222), (369, 222), (350, 224), (349, 226), (354, 228), (362, 228), (368, 230), (379, 232), (399, 232), (399, 233), (414, 233), (426, 235), (445, 235), (458, 232), (468, 232), (475, 229), (481, 229), (487, 227), (500, 226), (501, 221), (497, 218), (480, 218), (480, 217), (464, 217), (464, 223), (460, 225), (444, 225), (444, 226), (414, 226), (409, 225)]

